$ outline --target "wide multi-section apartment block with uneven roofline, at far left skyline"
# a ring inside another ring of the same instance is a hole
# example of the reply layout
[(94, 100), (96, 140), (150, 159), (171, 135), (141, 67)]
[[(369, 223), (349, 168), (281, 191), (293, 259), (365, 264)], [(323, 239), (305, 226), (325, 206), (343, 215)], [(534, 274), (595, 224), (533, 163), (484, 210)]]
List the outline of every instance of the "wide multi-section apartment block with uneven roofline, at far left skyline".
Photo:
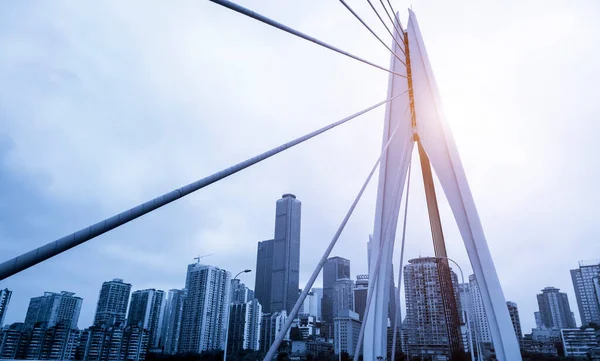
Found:
[(77, 328), (82, 303), (83, 299), (72, 292), (44, 292), (43, 296), (29, 301), (25, 328), (32, 329), (41, 322), (45, 323), (45, 327), (53, 327), (60, 321), (65, 321), (70, 329)]

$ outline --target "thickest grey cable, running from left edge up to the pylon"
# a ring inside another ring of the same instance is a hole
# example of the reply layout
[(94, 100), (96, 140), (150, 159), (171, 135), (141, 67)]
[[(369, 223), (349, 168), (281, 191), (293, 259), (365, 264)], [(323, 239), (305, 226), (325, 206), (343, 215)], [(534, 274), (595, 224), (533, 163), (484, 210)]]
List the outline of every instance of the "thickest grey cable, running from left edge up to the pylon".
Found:
[(317, 129), (311, 133), (303, 135), (292, 141), (284, 143), (278, 147), (268, 150), (264, 153), (256, 155), (252, 158), (246, 159), (243, 162), (237, 163), (229, 168), (225, 168), (217, 173), (209, 175), (208, 177), (197, 180), (193, 183), (185, 185), (181, 188), (175, 189), (174, 191), (163, 194), (162, 196), (156, 197), (148, 202), (142, 203), (137, 207), (128, 209), (121, 212), (113, 217), (107, 218), (103, 221), (95, 223), (89, 227), (83, 228), (75, 233), (68, 236), (59, 238), (55, 241), (47, 243), (44, 246), (36, 248), (11, 260), (8, 260), (0, 264), (0, 280), (6, 277), (12, 276), (17, 272), (23, 271), (31, 266), (34, 266), (40, 262), (43, 262), (51, 257), (54, 257), (62, 252), (65, 252), (73, 247), (76, 247), (82, 243), (85, 243), (101, 234), (104, 234), (112, 229), (120, 227), (125, 223), (133, 221), (147, 213), (150, 213), (162, 206), (165, 206), (171, 202), (176, 201), (179, 198), (185, 197), (190, 193), (200, 190), (210, 184), (220, 181), (223, 178), (229, 177), (243, 169), (246, 169), (256, 163), (259, 163), (267, 158), (274, 156), (275, 154), (281, 153), (286, 149), (292, 148), (300, 143), (303, 143), (311, 138), (316, 137), (328, 130), (331, 130), (339, 125), (342, 125), (349, 120), (352, 120), (359, 115), (365, 114), (383, 104), (389, 103), (390, 101), (402, 96), (404, 93), (393, 96), (389, 99), (381, 101), (375, 105), (372, 105), (366, 109), (363, 109), (357, 113), (354, 113), (344, 119), (338, 120), (337, 122), (326, 125), (320, 129)]

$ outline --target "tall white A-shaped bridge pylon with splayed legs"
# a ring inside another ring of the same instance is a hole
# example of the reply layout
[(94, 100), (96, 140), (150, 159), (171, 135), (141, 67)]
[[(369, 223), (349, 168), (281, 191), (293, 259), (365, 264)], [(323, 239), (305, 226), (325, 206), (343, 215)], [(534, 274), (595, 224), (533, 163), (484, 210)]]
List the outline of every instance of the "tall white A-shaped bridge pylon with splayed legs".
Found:
[[(401, 24), (397, 25), (402, 29)], [(378, 357), (386, 358), (387, 354), (389, 274), (400, 207), (400, 202), (395, 200), (398, 195), (402, 196), (415, 139), (419, 139), (444, 190), (465, 243), (481, 290), (496, 357), (499, 361), (520, 361), (521, 353), (506, 300), (454, 138), (443, 115), (440, 94), (414, 12), (409, 10), (408, 27), (403, 34), (396, 33), (395, 36), (398, 43), (404, 44), (405, 49), (399, 49), (394, 42), (393, 50), (399, 57), (406, 59), (407, 66), (392, 55), (390, 70), (406, 75), (407, 78), (394, 74), (390, 74), (389, 78), (388, 98), (403, 92), (405, 96), (388, 103), (385, 113), (383, 144), (388, 141), (396, 126), (398, 130), (379, 169), (369, 262), (372, 268), (369, 270), (370, 279), (374, 278), (375, 272), (377, 277), (375, 284), (369, 287), (374, 294), (365, 325), (364, 360), (375, 361)], [(411, 107), (411, 97), (414, 99), (414, 107)], [(383, 255), (380, 267), (375, 270), (381, 251)]]

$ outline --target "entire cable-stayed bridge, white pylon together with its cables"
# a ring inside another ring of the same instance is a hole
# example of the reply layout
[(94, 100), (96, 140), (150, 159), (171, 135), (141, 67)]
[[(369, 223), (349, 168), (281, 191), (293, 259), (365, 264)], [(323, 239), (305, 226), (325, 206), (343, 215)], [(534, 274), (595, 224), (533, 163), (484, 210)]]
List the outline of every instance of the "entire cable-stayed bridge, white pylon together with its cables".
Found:
[[(473, 272), (481, 290), (484, 308), (489, 320), (490, 331), (496, 351), (496, 357), (501, 361), (520, 360), (519, 345), (515, 338), (506, 300), (496, 273), (492, 255), (488, 249), (483, 228), (460, 156), (457, 151), (452, 133), (444, 118), (441, 97), (437, 89), (433, 69), (427, 56), (425, 43), (421, 35), (415, 13), (409, 10), (406, 27), (399, 20), (389, 0), (380, 0), (379, 9), (367, 0), (391, 37), (390, 44), (386, 43), (373, 29), (352, 9), (344, 0), (340, 0), (348, 13), (356, 18), (365, 30), (390, 52), (389, 66), (376, 64), (366, 58), (357, 56), (334, 45), (326, 43), (308, 34), (300, 32), (264, 15), (242, 7), (228, 0), (211, 0), (213, 3), (241, 15), (253, 18), (268, 26), (284, 31), (295, 37), (310, 41), (342, 56), (373, 67), (378, 71), (389, 74), (388, 96), (372, 106), (337, 120), (322, 128), (304, 134), (296, 139), (283, 143), (273, 149), (248, 158), (219, 172), (208, 175), (190, 184), (184, 185), (171, 192), (160, 195), (148, 202), (125, 210), (113, 217), (92, 224), (72, 234), (34, 249), (21, 256), (0, 264), (0, 280), (10, 277), (29, 267), (43, 262), (62, 252), (81, 245), (95, 237), (121, 227), (145, 214), (164, 207), (191, 193), (233, 176), (246, 168), (252, 167), (270, 157), (276, 156), (299, 144), (318, 137), (339, 127), (359, 116), (379, 107), (385, 107), (382, 146), (379, 157), (366, 176), (354, 201), (350, 204), (343, 221), (339, 225), (320, 261), (315, 266), (298, 301), (292, 309), (283, 330), (277, 335), (271, 345), (265, 361), (272, 360), (285, 334), (296, 318), (298, 311), (320, 274), (325, 261), (331, 255), (340, 235), (354, 209), (361, 200), (365, 189), (376, 172), (379, 175), (377, 202), (375, 209), (372, 252), (370, 255), (370, 282), (367, 296), (367, 308), (359, 335), (359, 343), (354, 352), (354, 361), (359, 357), (360, 345), (363, 345), (363, 358), (366, 361), (380, 359), (387, 353), (387, 317), (390, 297), (390, 278), (394, 250), (399, 250), (400, 265), (404, 262), (404, 245), (406, 229), (406, 212), (408, 193), (410, 190), (410, 174), (413, 171), (412, 154), (417, 148), (420, 163), (418, 168), (423, 175), (426, 204), (432, 233), (435, 256), (440, 260), (438, 277), (442, 285), (442, 296), (447, 316), (447, 328), (451, 349), (458, 347), (458, 314), (453, 301), (450, 266), (438, 209), (438, 195), (434, 186), (433, 171), (438, 177), (443, 192), (450, 204), (452, 213), (460, 230), (468, 253)], [(383, 9), (383, 11), (382, 11)], [(401, 213), (402, 200), (405, 208)], [(402, 217), (402, 218), (401, 218)], [(397, 225), (402, 224), (400, 242), (396, 244)], [(398, 247), (396, 247), (398, 246)], [(399, 268), (398, 284), (402, 280), (402, 267)], [(399, 316), (393, 320), (394, 342)], [(392, 349), (394, 359), (395, 348)], [(471, 355), (472, 356), (472, 355)]]

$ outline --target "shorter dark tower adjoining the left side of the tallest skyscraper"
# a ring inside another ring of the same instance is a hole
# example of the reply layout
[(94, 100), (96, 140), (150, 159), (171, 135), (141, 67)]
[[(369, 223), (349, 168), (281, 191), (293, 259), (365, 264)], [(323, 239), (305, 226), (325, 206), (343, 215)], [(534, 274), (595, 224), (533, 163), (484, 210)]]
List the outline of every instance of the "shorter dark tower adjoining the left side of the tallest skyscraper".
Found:
[(263, 306), (264, 313), (271, 312), (271, 284), (273, 277), (273, 243), (274, 241), (258, 242), (256, 254), (256, 278), (254, 296)]

